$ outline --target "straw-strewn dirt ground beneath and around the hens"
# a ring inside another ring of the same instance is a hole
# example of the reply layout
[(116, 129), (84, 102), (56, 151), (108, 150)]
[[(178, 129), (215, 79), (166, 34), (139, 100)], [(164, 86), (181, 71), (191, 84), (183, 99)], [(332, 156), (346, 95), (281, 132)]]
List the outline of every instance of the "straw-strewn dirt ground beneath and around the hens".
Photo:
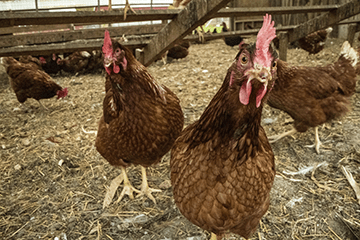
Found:
[[(328, 39), (317, 55), (288, 51), (288, 62), (319, 65), (335, 61), (343, 40)], [(355, 42), (355, 46), (359, 45)], [(192, 45), (185, 59), (149, 67), (151, 74), (181, 100), (185, 124), (202, 114), (219, 89), (237, 53), (222, 40)], [(43, 100), (43, 110), (27, 100), (19, 107), (0, 75), (0, 238), (1, 239), (187, 239), (209, 233), (188, 222), (174, 205), (169, 185), (169, 153), (148, 168), (149, 184), (161, 188), (157, 205), (147, 198), (112, 203), (102, 209), (107, 187), (120, 170), (94, 148), (102, 115), (104, 75), (54, 76), (68, 87), (65, 99)], [(360, 78), (359, 78), (360, 79)], [(268, 136), (291, 128), (292, 119), (266, 106), (263, 126)], [(360, 184), (360, 87), (352, 111), (320, 127), (325, 148), (316, 154), (305, 145), (314, 131), (297, 133), (274, 144), (277, 175), (271, 205), (251, 239), (360, 239), (360, 205), (341, 168)], [(128, 168), (135, 187), (140, 167)], [(115, 196), (118, 196), (119, 191)], [(230, 239), (240, 239), (231, 236)]]

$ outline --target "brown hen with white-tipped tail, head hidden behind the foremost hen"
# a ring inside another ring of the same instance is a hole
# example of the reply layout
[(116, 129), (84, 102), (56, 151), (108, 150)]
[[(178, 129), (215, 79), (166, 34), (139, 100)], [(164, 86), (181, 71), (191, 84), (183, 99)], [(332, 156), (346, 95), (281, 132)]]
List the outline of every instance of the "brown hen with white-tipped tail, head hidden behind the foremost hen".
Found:
[(344, 42), (339, 59), (324, 67), (289, 66), (278, 60), (277, 79), (268, 104), (288, 113), (294, 128), (284, 134), (269, 137), (275, 142), (296, 131), (315, 128), (316, 152), (321, 142), (318, 126), (343, 116), (349, 109), (349, 97), (355, 92), (355, 68), (358, 55)]

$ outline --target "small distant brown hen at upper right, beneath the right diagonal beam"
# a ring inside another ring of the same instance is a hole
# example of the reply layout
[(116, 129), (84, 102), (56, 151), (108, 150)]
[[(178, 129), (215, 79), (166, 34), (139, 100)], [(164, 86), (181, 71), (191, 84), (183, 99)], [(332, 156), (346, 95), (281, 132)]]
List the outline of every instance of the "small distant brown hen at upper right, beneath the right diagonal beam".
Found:
[(306, 37), (300, 38), (298, 45), (300, 48), (309, 52), (309, 54), (316, 54), (324, 49), (326, 38), (332, 30), (332, 27), (328, 27), (327, 29), (310, 33)]

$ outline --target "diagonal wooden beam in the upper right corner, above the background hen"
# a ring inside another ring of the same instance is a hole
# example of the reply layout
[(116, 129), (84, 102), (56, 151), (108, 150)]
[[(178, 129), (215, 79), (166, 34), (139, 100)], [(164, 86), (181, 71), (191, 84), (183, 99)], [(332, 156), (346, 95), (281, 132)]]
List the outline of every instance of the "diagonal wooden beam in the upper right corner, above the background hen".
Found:
[(358, 14), (359, 12), (359, 0), (352, 0), (350, 2), (344, 3), (339, 8), (331, 10), (328, 13), (324, 13), (294, 28), (294, 30), (289, 33), (289, 41), (293, 42), (302, 37), (305, 37), (309, 33), (335, 25), (344, 19)]

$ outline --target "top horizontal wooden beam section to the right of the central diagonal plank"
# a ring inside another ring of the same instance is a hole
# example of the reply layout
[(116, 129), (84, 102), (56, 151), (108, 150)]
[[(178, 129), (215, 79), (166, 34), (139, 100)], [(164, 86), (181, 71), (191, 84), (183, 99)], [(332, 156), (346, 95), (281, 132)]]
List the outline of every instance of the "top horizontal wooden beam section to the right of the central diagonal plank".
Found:
[(226, 8), (218, 11), (213, 17), (263, 16), (266, 13), (296, 14), (309, 12), (328, 12), (336, 10), (339, 5), (292, 6), (292, 7), (261, 7), (261, 8)]

